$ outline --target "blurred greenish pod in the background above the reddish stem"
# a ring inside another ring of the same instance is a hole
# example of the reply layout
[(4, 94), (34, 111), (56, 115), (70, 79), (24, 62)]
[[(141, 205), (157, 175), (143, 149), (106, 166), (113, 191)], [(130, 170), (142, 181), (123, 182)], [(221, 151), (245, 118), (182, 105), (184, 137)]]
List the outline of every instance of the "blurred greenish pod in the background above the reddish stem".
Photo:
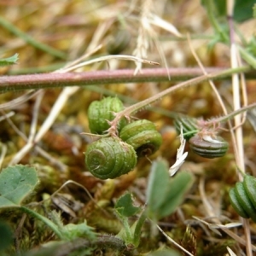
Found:
[(119, 29), (107, 44), (107, 51), (110, 55), (119, 55), (130, 43), (131, 34), (128, 30)]

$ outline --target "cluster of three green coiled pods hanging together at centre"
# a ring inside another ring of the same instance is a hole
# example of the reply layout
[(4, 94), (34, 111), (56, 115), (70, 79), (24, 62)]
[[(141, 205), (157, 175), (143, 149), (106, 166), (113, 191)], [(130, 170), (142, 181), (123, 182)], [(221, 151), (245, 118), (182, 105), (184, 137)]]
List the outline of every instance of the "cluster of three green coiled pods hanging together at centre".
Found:
[[(123, 103), (117, 97), (92, 102), (88, 109), (90, 131), (106, 134), (109, 121), (123, 109)], [(126, 119), (121, 119), (118, 131), (119, 137), (102, 137), (87, 147), (85, 165), (95, 177), (115, 178), (131, 172), (137, 165), (137, 157), (154, 154), (162, 143), (160, 132), (147, 119), (129, 124)]]

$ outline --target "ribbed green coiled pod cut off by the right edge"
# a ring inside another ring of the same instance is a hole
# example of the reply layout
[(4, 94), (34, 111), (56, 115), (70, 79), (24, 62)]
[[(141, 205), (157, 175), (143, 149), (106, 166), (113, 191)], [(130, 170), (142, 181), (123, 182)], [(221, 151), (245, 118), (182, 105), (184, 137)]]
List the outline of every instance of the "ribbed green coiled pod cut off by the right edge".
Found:
[(242, 218), (252, 218), (256, 223), (256, 178), (246, 175), (242, 182), (230, 189), (230, 203)]

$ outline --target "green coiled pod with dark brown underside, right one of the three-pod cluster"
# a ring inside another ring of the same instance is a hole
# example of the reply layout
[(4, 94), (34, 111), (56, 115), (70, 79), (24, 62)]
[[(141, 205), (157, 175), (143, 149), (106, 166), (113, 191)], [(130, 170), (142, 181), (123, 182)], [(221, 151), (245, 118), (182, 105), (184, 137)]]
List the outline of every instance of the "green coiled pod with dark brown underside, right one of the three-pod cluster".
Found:
[(156, 131), (154, 123), (147, 119), (125, 125), (119, 137), (136, 150), (137, 156), (154, 154), (162, 143), (160, 132)]

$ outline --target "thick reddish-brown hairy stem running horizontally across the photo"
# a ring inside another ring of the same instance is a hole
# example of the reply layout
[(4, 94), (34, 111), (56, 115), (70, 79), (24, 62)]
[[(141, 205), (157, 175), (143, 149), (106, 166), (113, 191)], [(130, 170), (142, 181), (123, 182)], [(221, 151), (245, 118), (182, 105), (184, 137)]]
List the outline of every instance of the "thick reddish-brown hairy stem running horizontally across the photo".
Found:
[[(207, 73), (224, 71), (223, 67), (208, 67)], [(247, 68), (248, 70), (248, 68)], [(0, 92), (10, 90), (31, 90), (41, 88), (55, 88), (88, 84), (119, 84), (119, 83), (144, 83), (168, 81), (168, 73), (171, 81), (193, 79), (202, 74), (197, 67), (189, 68), (147, 68), (143, 73), (134, 75), (134, 70), (122, 69), (114, 71), (91, 71), (83, 73), (43, 73), (18, 76), (3, 76), (0, 78)], [(247, 76), (254, 76), (247, 73)], [(230, 77), (230, 74), (227, 75)], [(214, 78), (213, 78), (214, 79)], [(219, 78), (218, 78), (219, 79)]]

